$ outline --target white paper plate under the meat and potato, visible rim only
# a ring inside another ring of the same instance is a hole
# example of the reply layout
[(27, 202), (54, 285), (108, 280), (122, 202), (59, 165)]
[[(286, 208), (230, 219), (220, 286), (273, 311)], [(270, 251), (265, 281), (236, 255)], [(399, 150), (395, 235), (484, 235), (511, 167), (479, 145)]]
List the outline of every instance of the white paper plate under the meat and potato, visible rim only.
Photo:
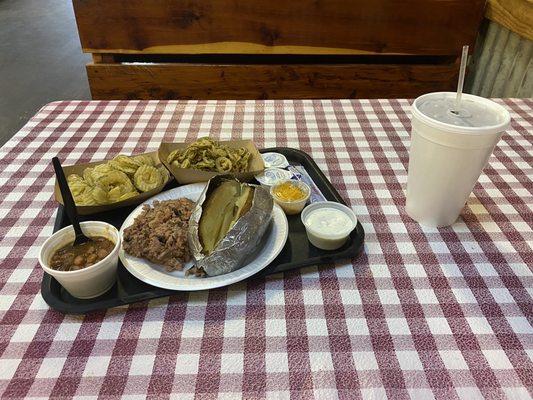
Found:
[[(180, 186), (159, 193), (145, 201), (143, 204), (152, 204), (154, 200), (173, 200), (181, 197), (196, 201), (198, 200), (198, 197), (200, 197), (202, 190), (204, 190), (205, 185), (206, 183), (194, 183), (191, 185)], [(124, 229), (133, 224), (135, 217), (141, 213), (143, 204), (133, 210), (120, 227), (121, 239), (123, 238)], [(124, 264), (126, 269), (133, 276), (150, 285), (171, 290), (206, 290), (242, 281), (243, 279), (261, 271), (274, 261), (276, 256), (281, 252), (287, 241), (288, 234), (289, 224), (287, 222), (287, 217), (279, 206), (274, 205), (271, 227), (267, 230), (267, 233), (263, 238), (262, 249), (257, 253), (255, 259), (249, 264), (236, 271), (230, 272), (229, 274), (205, 278), (197, 278), (195, 276), (185, 277), (184, 271), (167, 272), (165, 267), (161, 265), (126, 254), (122, 246), (120, 248), (119, 257), (122, 264)], [(192, 262), (187, 263), (186, 268), (192, 264)]]

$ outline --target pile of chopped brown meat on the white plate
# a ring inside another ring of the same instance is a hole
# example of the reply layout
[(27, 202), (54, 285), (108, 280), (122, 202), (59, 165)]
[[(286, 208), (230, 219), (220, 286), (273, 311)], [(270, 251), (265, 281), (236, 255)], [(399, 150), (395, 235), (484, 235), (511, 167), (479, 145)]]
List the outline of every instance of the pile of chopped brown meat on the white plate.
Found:
[(191, 259), (187, 229), (194, 203), (189, 199), (154, 201), (145, 205), (133, 225), (124, 230), (124, 251), (164, 265), (167, 271), (183, 269)]

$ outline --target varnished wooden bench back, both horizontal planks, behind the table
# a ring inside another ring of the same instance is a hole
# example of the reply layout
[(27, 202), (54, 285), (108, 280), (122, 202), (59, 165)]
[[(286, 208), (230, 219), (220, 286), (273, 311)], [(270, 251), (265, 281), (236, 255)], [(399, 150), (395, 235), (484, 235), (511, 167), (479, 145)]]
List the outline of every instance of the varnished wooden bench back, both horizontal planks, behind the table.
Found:
[(73, 0), (94, 99), (454, 90), (484, 0)]

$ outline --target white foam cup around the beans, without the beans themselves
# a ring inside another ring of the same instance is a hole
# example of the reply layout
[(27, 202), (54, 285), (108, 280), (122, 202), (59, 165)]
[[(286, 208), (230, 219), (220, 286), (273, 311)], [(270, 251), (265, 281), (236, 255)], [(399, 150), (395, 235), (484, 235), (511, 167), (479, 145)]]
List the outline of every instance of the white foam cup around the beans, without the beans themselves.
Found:
[(50, 268), (50, 260), (54, 253), (74, 241), (74, 228), (70, 225), (57, 231), (43, 243), (39, 253), (39, 263), (43, 270), (57, 279), (72, 296), (90, 299), (104, 294), (115, 283), (120, 235), (117, 228), (105, 222), (88, 221), (80, 223), (80, 226), (87, 236), (102, 236), (115, 243), (115, 247), (106, 258), (76, 271), (57, 271)]

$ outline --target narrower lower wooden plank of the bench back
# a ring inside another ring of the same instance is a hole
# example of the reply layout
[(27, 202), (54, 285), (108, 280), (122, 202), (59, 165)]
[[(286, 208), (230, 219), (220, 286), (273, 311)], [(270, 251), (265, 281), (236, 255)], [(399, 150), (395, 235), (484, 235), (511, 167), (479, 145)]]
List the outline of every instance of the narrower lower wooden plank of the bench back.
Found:
[(316, 99), (417, 97), (453, 90), (447, 65), (94, 64), (97, 99)]

